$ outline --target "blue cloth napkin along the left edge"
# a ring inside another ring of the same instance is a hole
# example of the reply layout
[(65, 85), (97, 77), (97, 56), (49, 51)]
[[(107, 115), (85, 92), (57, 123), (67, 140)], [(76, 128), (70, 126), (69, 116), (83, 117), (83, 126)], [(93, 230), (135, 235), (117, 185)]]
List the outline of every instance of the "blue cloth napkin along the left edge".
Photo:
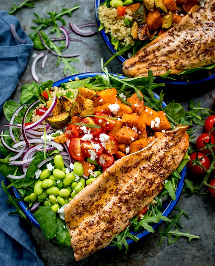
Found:
[[(13, 37), (10, 24), (16, 26), (20, 38), (27, 39), (25, 43), (19, 43)], [(0, 112), (18, 85), (32, 47), (33, 43), (21, 28), (19, 20), (0, 10)], [(5, 183), (6, 179), (0, 174), (2, 180)], [(44, 266), (19, 215), (8, 215), (16, 210), (7, 203), (7, 199), (0, 185), (0, 265)]]

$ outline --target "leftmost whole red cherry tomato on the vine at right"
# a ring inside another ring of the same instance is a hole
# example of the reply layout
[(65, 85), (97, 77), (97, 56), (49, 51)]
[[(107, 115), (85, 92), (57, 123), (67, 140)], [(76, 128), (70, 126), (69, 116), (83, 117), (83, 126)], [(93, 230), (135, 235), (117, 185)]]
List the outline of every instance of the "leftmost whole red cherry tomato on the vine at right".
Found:
[[(205, 157), (204, 157), (205, 156)], [(204, 158), (202, 158), (204, 157)], [(205, 169), (209, 169), (210, 165), (211, 165), (211, 161), (208, 158), (208, 156), (205, 155), (205, 153), (200, 153), (198, 152), (198, 159), (201, 159), (200, 163), (205, 167)], [(194, 164), (192, 161), (196, 159), (196, 153), (192, 153), (190, 156), (190, 161), (188, 162), (188, 167), (190, 168), (190, 170), (192, 172), (194, 172), (197, 175), (202, 175), (205, 173), (205, 169), (203, 169), (202, 167)]]

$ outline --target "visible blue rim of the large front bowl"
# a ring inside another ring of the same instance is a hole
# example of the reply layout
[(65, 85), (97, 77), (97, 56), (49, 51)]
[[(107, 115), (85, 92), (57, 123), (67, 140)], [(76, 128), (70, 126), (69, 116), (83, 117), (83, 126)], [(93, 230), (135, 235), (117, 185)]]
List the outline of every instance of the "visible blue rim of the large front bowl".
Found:
[[(82, 73), (82, 74), (76, 74), (70, 77), (66, 77), (63, 78), (62, 80), (58, 80), (56, 81), (53, 86), (60, 86), (62, 83), (67, 83), (69, 81), (73, 81), (75, 80), (75, 78), (79, 78), (79, 79), (85, 79), (87, 77), (95, 77), (98, 74), (105, 74), (103, 72), (89, 72), (89, 73)], [(113, 73), (110, 73), (113, 74)], [(114, 76), (116, 76), (116, 74), (113, 74)], [(120, 78), (125, 78), (125, 76), (120, 76)], [(159, 96), (157, 94), (155, 94), (155, 97), (159, 99)], [(163, 102), (163, 107), (165, 107), (166, 104), (165, 102)], [(164, 216), (168, 216), (173, 209), (175, 208), (180, 195), (182, 193), (182, 189), (184, 186), (184, 182), (185, 182), (185, 178), (186, 178), (186, 174), (187, 174), (187, 167), (185, 166), (184, 169), (182, 170), (182, 172), (180, 173), (181, 175), (181, 179), (179, 179), (178, 181), (178, 185), (177, 185), (177, 189), (176, 189), (176, 200), (172, 200), (171, 198), (168, 198), (164, 203), (163, 203), (163, 212), (162, 214)], [(17, 198), (21, 198), (19, 195), (18, 190), (13, 187), (13, 191), (14, 194)], [(33, 213), (30, 211), (30, 209), (27, 207), (27, 205), (25, 204), (24, 201), (18, 201), (18, 204), (21, 208), (21, 210), (24, 212), (24, 214), (26, 215), (26, 217), (30, 220), (30, 222), (33, 223), (33, 225), (35, 225), (37, 228), (40, 229), (39, 223), (37, 222), (36, 218), (34, 217)], [(162, 220), (159, 221), (159, 223), (156, 223), (154, 225), (152, 225), (153, 229), (156, 229), (160, 224), (162, 223)], [(131, 232), (133, 235), (135, 235), (136, 237), (138, 237), (139, 239), (142, 239), (143, 237), (145, 237), (146, 235), (149, 234), (149, 232), (147, 230), (141, 230), (141, 231), (136, 231), (136, 232)], [(128, 239), (127, 240), (128, 244), (131, 244), (134, 242), (134, 240), (132, 239)], [(116, 250), (117, 247), (116, 246), (108, 246), (105, 248), (105, 250)]]

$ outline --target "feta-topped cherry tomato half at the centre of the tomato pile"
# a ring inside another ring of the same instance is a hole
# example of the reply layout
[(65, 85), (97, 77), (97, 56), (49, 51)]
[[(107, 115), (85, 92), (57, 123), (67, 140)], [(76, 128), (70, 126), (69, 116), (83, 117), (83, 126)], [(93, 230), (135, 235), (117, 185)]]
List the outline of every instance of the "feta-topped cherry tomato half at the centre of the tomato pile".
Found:
[[(103, 149), (104, 148), (99, 143), (99, 141), (92, 141), (92, 140), (84, 141), (81, 146), (82, 153), (88, 158), (90, 158), (93, 155), (95, 155), (96, 158), (98, 158), (102, 154)], [(92, 158), (92, 160), (94, 161), (95, 158)]]

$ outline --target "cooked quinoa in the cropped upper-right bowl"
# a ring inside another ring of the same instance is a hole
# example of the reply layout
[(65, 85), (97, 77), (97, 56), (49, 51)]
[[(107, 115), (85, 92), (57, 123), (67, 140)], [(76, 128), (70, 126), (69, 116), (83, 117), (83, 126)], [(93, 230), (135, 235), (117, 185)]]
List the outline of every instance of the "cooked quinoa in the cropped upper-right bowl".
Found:
[(105, 33), (110, 33), (115, 40), (119, 40), (120, 44), (125, 46), (126, 44), (134, 45), (134, 40), (131, 38), (131, 27), (125, 26), (123, 19), (128, 18), (133, 21), (131, 16), (132, 12), (128, 9), (125, 10), (125, 16), (117, 15), (116, 8), (106, 7), (101, 5), (98, 7), (99, 20), (104, 24)]

